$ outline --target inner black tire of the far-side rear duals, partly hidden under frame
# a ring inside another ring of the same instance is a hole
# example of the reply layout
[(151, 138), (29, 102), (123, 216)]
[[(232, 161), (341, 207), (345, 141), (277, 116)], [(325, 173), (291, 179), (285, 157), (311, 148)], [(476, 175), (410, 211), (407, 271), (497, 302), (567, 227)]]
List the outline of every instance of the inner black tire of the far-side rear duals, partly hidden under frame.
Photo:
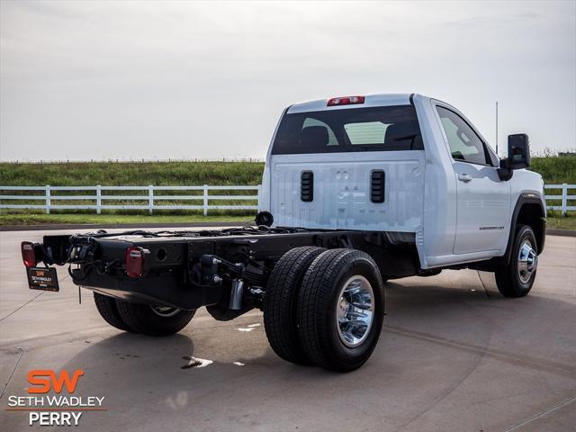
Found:
[(192, 320), (196, 311), (173, 309), (166, 311), (166, 316), (159, 315), (148, 304), (130, 303), (117, 300), (121, 319), (135, 333), (148, 336), (174, 335)]

